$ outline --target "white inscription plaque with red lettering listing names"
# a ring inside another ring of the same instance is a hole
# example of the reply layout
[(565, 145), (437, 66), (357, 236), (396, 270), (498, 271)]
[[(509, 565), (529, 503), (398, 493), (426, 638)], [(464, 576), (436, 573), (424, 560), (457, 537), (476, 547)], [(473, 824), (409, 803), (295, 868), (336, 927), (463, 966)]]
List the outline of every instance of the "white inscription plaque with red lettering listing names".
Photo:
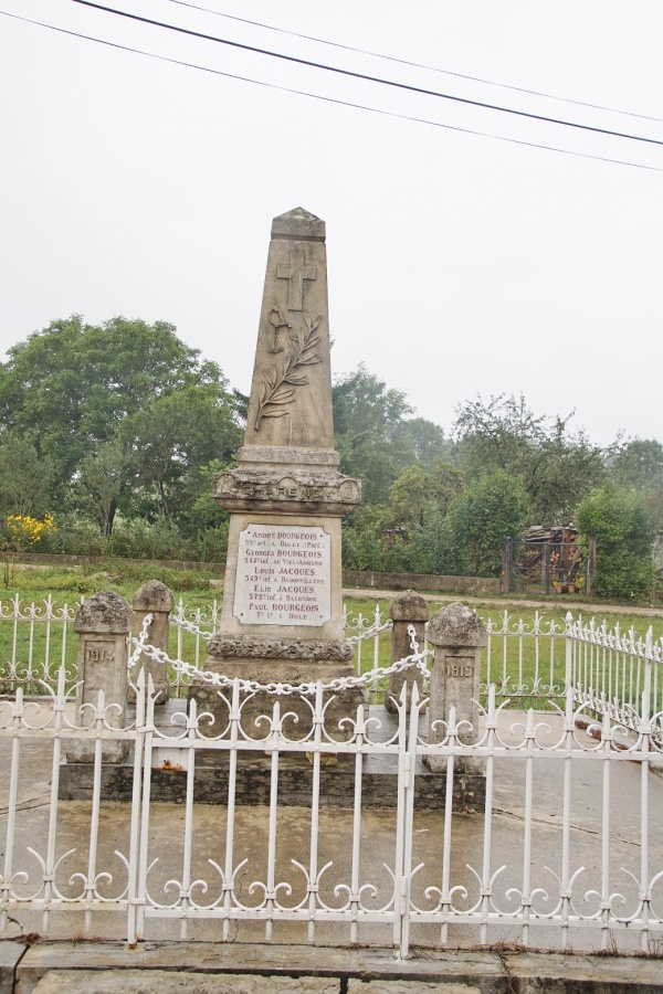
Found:
[(332, 616), (332, 537), (317, 526), (240, 532), (233, 614), (244, 625), (322, 625)]

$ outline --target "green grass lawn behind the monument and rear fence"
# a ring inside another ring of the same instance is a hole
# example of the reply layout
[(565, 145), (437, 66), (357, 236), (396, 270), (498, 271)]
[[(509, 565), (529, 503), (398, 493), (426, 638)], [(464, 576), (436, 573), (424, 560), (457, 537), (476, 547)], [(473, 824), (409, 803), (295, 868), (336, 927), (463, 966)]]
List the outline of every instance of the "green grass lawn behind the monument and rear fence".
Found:
[[(0, 579), (1, 575), (0, 575)], [(65, 605), (70, 612), (75, 613), (81, 601), (92, 593), (99, 590), (114, 590), (120, 593), (130, 603), (134, 593), (147, 580), (159, 579), (167, 583), (172, 590), (176, 604), (183, 601), (188, 616), (199, 611), (202, 613), (201, 627), (210, 630), (210, 613), (213, 601), (217, 601), (218, 609), (221, 604), (221, 586), (210, 583), (210, 575), (193, 571), (177, 571), (169, 569), (160, 569), (150, 563), (126, 563), (118, 560), (108, 561), (99, 568), (98, 563), (94, 567), (49, 567), (49, 568), (29, 568), (17, 565), (13, 577), (6, 578), (10, 583), (0, 586), (0, 607), (4, 618), (13, 613), (11, 604), (12, 599), (18, 595), (21, 600), (22, 612), (27, 613), (29, 606), (34, 603), (38, 613), (45, 611), (45, 601), (52, 598), (55, 611), (63, 611)], [(367, 596), (349, 596), (345, 600), (346, 609), (350, 620), (362, 616), (365, 626), (369, 626), (379, 609), (380, 620), (387, 621), (389, 617), (388, 600), (376, 601), (373, 598)], [(442, 602), (430, 602), (430, 612), (432, 614), (443, 606)], [(505, 676), (509, 679), (506, 686), (507, 691), (513, 688), (514, 684), (523, 684), (532, 688), (533, 681), (538, 678), (543, 685), (550, 680), (550, 639), (536, 639), (530, 634), (535, 625), (540, 626), (545, 633), (549, 631), (549, 625), (555, 622), (559, 632), (564, 632), (565, 615), (569, 606), (565, 604), (550, 604), (546, 607), (535, 610), (527, 607), (514, 600), (506, 609), (502, 605), (485, 603), (472, 605), (477, 611), (484, 623), (491, 623), (493, 634), (490, 641), (488, 649), (484, 652), (484, 666), (482, 673), (482, 681), (485, 684), (488, 678), (488, 657), (490, 657), (490, 678), (492, 681), (503, 684)], [(573, 612), (577, 616), (577, 613)], [(641, 615), (621, 614), (610, 611), (610, 605), (600, 607), (596, 611), (594, 617), (600, 624), (603, 618), (608, 623), (608, 627), (612, 628), (615, 624), (620, 625), (622, 632), (633, 626), (636, 635), (644, 636), (649, 625), (652, 625), (654, 638), (663, 635), (663, 616), (644, 617)], [(522, 634), (518, 636), (518, 625), (522, 621)], [(589, 621), (589, 616), (585, 617)], [(507, 627), (511, 633), (507, 637), (496, 632), (502, 631), (503, 626)], [(351, 631), (348, 634), (352, 634)], [(70, 672), (74, 675), (74, 665), (76, 659), (77, 638), (73, 632), (73, 625), (69, 622), (66, 625), (62, 623), (53, 623), (50, 633), (46, 625), (39, 618), (25, 620), (18, 623), (11, 620), (0, 620), (0, 692), (12, 692), (15, 683), (11, 679), (11, 659), (12, 655), (17, 659), (18, 672), (25, 673), (29, 660), (32, 660), (31, 672), (35, 679), (44, 676), (44, 667), (48, 664), (51, 676), (54, 675), (60, 663), (65, 662)], [(560, 675), (564, 677), (564, 635), (560, 634), (555, 638), (555, 672), (552, 674), (554, 683), (559, 681)], [(178, 632), (175, 627), (171, 630), (169, 652), (172, 657), (180, 655), (187, 662), (198, 662), (201, 665), (204, 660), (204, 639), (199, 642), (198, 660), (196, 660), (196, 638), (187, 632)], [(379, 638), (378, 647), (373, 646), (372, 641), (361, 644), (360, 652), (357, 652), (357, 662), (360, 664), (361, 672), (366, 673), (372, 669), (377, 663), (379, 666), (388, 666), (391, 656), (391, 645), (389, 632), (382, 634)], [(33, 684), (30, 688), (31, 692), (39, 692), (40, 687)], [(540, 699), (537, 697), (526, 697), (523, 704), (538, 704)]]

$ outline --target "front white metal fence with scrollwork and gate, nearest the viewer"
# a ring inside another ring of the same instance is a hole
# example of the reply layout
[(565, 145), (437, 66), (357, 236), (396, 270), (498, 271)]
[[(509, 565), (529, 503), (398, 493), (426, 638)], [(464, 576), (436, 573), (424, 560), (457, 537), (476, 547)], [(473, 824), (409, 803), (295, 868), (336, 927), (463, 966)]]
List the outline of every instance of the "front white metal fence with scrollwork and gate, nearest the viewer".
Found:
[[(663, 781), (650, 770), (663, 755), (646, 690), (624, 748), (608, 711), (600, 738), (577, 728), (587, 705), (571, 687), (549, 716), (514, 715), (492, 687), (469, 745), (453, 712), (442, 741), (430, 744), (425, 700), (414, 691), (408, 705), (404, 689), (392, 729), (366, 705), (343, 728), (329, 722), (317, 685), (309, 727), (297, 730), (290, 696), (273, 695), (255, 739), (239, 680), (220, 688), (225, 720), (214, 734), (194, 701), (162, 727), (144, 679), (131, 725), (114, 728), (99, 695), (92, 723), (81, 727), (66, 681), (61, 667), (46, 699), (27, 702), (19, 688), (0, 701), (0, 930), (18, 922), (129, 942), (284, 937), (393, 945), (401, 955), (412, 943), (497, 941), (659, 949)], [(92, 787), (87, 800), (61, 801), (72, 739), (94, 742)], [(129, 803), (103, 800), (115, 772), (102, 762), (108, 740), (130, 747)], [(436, 812), (414, 801), (427, 755), (446, 762)], [(326, 807), (330, 758), (352, 778), (345, 811)], [(165, 761), (183, 780), (181, 805), (155, 803)], [(376, 761), (396, 779), (393, 810), (366, 806)], [(219, 803), (198, 804), (197, 776), (210, 764)], [(269, 783), (262, 807), (245, 806), (246, 771), (256, 764)], [(467, 817), (453, 796), (471, 768), (485, 772), (485, 814)], [(281, 803), (288, 770), (296, 807)]]

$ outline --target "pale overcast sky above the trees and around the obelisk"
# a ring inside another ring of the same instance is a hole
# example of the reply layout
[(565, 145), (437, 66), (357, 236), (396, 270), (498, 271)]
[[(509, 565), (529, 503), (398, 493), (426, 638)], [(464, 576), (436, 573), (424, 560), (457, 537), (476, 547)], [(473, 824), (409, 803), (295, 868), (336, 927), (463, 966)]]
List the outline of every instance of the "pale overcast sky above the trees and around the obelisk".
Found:
[[(660, 0), (191, 2), (282, 31), (173, 0), (106, 0), (663, 142)], [(327, 222), (335, 374), (365, 362), (446, 432), (463, 400), (523, 392), (537, 413), (575, 410), (572, 425), (601, 444), (620, 431), (663, 441), (663, 145), (352, 80), (74, 0), (0, 10), (270, 84), (0, 17), (0, 351), (72, 313), (164, 319), (248, 392), (271, 221), (302, 205)]]

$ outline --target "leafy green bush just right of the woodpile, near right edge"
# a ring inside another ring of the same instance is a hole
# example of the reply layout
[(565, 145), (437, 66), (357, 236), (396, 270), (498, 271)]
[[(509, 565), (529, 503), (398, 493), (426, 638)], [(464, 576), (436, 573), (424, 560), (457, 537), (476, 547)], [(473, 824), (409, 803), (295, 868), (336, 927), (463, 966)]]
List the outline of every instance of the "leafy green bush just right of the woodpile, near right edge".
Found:
[(596, 539), (594, 585), (600, 598), (643, 598), (652, 589), (654, 528), (642, 494), (604, 484), (576, 516), (583, 543)]

